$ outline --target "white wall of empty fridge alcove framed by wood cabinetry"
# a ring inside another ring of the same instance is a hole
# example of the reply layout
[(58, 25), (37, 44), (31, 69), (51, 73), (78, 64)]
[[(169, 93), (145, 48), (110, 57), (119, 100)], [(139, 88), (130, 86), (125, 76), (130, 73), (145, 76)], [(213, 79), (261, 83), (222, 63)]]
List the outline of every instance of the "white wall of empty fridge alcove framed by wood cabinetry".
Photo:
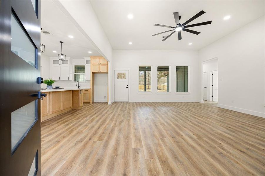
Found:
[(108, 101), (108, 74), (95, 74), (94, 102)]

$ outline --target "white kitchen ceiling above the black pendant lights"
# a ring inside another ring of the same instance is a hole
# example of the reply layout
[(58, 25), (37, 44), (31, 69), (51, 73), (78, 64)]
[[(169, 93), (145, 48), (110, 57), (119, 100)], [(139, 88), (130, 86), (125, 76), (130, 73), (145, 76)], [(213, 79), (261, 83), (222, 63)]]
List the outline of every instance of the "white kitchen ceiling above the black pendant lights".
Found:
[[(62, 13), (52, 1), (41, 1), (41, 27), (53, 35), (41, 33), (41, 43), (45, 45), (45, 55), (57, 57), (63, 53), (66, 57), (83, 58), (101, 56), (96, 48), (87, 40), (74, 24)], [(69, 38), (68, 35), (74, 36)], [(53, 51), (57, 53), (53, 53)], [(88, 53), (91, 51), (92, 53)]]

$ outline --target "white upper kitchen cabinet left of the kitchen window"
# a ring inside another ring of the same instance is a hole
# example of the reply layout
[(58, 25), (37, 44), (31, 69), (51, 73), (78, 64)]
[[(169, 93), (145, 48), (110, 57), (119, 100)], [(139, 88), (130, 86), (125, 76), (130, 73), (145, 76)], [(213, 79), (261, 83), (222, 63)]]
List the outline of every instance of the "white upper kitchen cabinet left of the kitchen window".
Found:
[(51, 78), (54, 80), (72, 80), (70, 75), (70, 57), (67, 57), (66, 60), (51, 57)]

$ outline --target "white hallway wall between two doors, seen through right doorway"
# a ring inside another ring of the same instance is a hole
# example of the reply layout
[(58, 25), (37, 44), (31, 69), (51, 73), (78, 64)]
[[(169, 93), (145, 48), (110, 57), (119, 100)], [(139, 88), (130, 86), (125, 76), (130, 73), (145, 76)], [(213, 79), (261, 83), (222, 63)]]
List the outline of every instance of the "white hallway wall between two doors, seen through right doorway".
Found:
[(211, 71), (218, 70), (218, 59), (211, 60), (203, 64), (203, 72), (208, 72), (208, 84), (207, 84), (207, 101), (210, 101), (211, 96)]

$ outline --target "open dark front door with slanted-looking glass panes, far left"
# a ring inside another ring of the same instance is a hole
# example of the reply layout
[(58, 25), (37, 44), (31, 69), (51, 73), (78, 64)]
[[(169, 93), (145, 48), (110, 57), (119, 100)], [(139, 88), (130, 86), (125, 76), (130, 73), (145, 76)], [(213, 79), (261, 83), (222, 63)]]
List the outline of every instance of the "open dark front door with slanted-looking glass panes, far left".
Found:
[(0, 9), (0, 175), (41, 175), (40, 1)]

